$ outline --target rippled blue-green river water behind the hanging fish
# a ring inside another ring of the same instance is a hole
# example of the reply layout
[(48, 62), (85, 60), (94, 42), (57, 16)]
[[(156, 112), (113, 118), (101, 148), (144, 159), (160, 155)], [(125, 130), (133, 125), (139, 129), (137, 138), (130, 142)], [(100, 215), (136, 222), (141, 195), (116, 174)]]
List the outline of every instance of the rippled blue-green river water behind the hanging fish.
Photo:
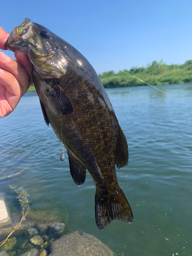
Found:
[[(159, 88), (192, 104), (192, 84)], [(106, 91), (129, 144), (129, 165), (116, 171), (133, 224), (97, 228), (94, 183), (89, 174), (82, 186), (73, 182), (35, 93), (0, 120), (0, 179), (26, 168), (0, 180), (0, 192), (11, 200), (9, 185), (23, 186), (33, 208), (59, 202), (69, 212), (69, 231), (93, 234), (115, 255), (192, 255), (192, 108), (146, 86)]]

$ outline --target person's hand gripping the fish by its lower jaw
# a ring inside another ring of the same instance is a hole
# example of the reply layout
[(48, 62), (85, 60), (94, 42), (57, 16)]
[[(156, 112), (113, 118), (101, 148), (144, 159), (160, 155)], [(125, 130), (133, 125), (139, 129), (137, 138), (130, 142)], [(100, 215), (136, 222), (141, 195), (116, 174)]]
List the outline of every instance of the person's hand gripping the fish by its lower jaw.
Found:
[[(0, 27), (0, 49), (7, 50), (9, 34)], [(8, 116), (33, 83), (32, 64), (27, 52), (15, 51), (16, 60), (0, 52), (0, 117)]]

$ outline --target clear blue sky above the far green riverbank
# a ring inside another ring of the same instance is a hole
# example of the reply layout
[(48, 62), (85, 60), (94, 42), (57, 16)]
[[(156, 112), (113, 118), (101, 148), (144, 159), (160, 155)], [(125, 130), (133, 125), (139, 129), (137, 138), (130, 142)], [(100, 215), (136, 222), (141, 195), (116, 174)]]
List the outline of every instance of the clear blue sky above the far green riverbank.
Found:
[[(25, 17), (77, 48), (97, 73), (192, 59), (192, 1), (3, 1), (7, 32)], [(7, 51), (8, 52), (8, 51)], [(117, 68), (93, 57), (100, 58)], [(9, 53), (12, 56), (12, 53)]]

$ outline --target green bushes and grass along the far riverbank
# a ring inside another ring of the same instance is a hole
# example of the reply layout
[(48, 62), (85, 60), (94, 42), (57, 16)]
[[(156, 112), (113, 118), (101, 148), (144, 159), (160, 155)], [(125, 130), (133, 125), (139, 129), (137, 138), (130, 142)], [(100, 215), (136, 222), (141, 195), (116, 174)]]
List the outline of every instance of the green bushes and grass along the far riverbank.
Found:
[[(163, 60), (160, 60), (159, 62), (153, 61), (152, 64), (148, 64), (146, 67), (133, 67), (130, 70), (125, 69), (123, 71), (153, 86), (192, 83), (192, 60), (187, 60), (182, 65), (166, 65), (163, 63)], [(115, 73), (114, 71), (107, 71), (99, 74), (99, 78), (101, 79), (104, 88), (145, 85), (142, 81), (139, 81), (124, 72), (119, 71), (118, 73)], [(34, 85), (29, 88), (28, 92), (35, 92)]]

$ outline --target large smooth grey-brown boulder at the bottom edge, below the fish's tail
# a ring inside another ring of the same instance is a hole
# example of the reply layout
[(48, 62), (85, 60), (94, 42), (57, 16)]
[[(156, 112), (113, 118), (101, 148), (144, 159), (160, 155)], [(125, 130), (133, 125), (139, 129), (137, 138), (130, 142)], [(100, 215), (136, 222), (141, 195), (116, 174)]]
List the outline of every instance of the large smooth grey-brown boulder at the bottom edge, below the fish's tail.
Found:
[(73, 232), (55, 240), (49, 256), (114, 256), (109, 247), (87, 233)]

